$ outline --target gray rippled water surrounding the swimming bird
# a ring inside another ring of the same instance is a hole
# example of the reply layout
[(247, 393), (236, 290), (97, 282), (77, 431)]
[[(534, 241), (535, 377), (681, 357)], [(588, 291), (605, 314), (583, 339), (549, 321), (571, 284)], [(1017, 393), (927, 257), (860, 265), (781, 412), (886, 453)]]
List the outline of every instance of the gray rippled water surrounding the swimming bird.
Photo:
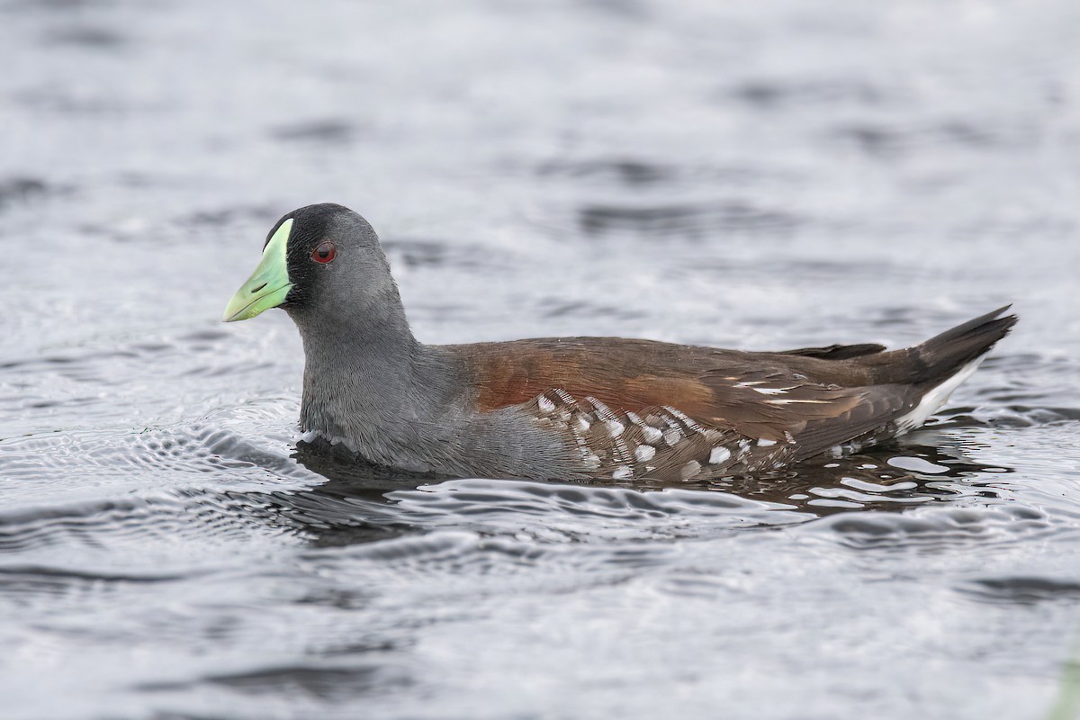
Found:
[[(0, 715), (1072, 717), (1080, 9), (0, 0)], [(296, 432), (267, 229), (431, 342), (1013, 336), (902, 441), (708, 485)]]

